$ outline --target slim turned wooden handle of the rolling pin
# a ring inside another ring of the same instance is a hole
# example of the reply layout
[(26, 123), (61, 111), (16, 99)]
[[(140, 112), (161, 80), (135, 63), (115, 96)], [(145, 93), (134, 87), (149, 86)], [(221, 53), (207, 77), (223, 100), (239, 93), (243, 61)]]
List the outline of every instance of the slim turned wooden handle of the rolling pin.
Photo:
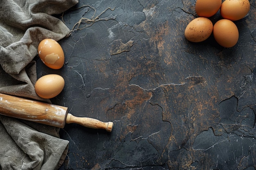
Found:
[(94, 129), (105, 129), (108, 132), (112, 131), (113, 122), (102, 122), (97, 119), (92, 119), (89, 117), (75, 117), (70, 113), (67, 114), (66, 123), (76, 123), (87, 128), (94, 128)]

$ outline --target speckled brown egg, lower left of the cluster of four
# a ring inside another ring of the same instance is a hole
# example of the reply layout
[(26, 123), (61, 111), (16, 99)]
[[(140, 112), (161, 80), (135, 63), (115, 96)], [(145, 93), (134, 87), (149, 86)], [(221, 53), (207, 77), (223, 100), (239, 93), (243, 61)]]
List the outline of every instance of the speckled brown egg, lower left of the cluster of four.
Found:
[(193, 19), (186, 26), (184, 35), (185, 38), (191, 42), (202, 42), (209, 38), (213, 30), (211, 20), (204, 17)]

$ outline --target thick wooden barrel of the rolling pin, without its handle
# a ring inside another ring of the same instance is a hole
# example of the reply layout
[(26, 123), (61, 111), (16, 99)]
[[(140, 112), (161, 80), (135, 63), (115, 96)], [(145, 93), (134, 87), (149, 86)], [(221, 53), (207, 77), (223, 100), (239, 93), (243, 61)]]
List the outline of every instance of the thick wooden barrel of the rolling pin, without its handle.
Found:
[(67, 107), (0, 93), (0, 114), (64, 128)]

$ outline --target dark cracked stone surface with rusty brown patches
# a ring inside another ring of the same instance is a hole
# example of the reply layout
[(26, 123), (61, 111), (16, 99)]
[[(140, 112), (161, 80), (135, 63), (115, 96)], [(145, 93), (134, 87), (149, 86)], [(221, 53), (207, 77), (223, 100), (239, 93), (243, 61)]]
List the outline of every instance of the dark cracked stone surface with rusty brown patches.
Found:
[(93, 8), (100, 20), (82, 22), (87, 27), (59, 42), (60, 70), (38, 60), (38, 77), (63, 76), (65, 88), (52, 102), (114, 128), (67, 124), (60, 170), (256, 169), (256, 1), (250, 4), (229, 49), (213, 36), (184, 38), (197, 17), (194, 0), (80, 0), (65, 12), (70, 29), (92, 18)]

